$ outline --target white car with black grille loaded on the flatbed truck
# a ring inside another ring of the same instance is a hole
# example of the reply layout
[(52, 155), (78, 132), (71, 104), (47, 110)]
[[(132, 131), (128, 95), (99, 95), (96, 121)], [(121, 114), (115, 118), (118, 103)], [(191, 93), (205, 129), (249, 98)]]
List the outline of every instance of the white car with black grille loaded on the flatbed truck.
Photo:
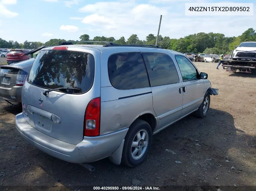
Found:
[(256, 42), (243, 42), (233, 51), (233, 60), (256, 59)]

